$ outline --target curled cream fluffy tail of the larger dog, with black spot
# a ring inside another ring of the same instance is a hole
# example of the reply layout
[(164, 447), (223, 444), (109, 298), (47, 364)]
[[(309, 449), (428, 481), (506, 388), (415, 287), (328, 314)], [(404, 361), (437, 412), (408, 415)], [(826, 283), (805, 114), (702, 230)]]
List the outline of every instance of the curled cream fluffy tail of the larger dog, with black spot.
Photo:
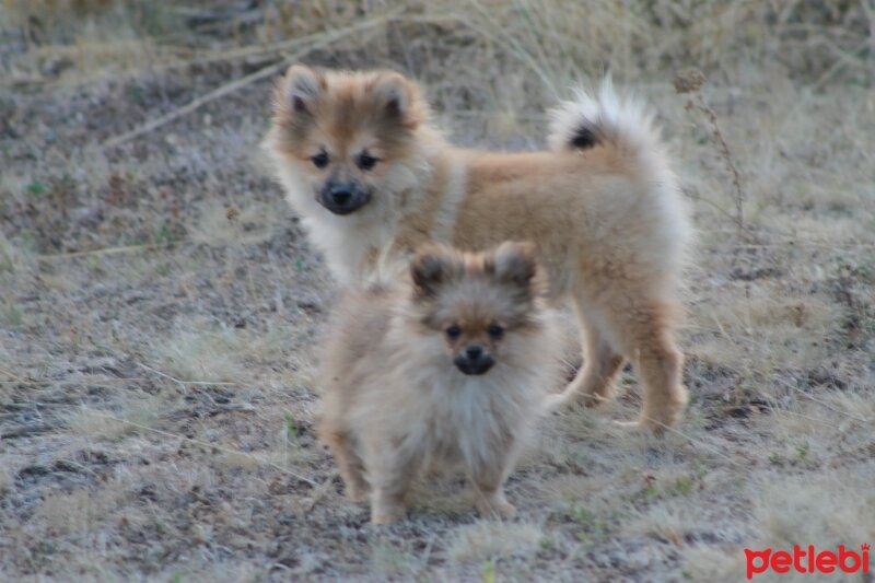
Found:
[(576, 90), (573, 101), (563, 102), (550, 114), (549, 144), (555, 151), (612, 148), (645, 163), (658, 163), (652, 156), (663, 155), (653, 115), (639, 101), (617, 95), (609, 78), (597, 92)]

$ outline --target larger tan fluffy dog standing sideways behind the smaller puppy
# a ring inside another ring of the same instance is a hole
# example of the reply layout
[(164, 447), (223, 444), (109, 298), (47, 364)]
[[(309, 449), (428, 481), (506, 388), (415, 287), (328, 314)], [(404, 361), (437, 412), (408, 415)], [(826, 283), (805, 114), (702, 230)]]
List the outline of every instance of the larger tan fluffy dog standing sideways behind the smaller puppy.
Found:
[(689, 226), (651, 116), (605, 83), (553, 113), (551, 151), (447, 144), (418, 86), (392, 72), (289, 69), (267, 140), (288, 199), (341, 281), (396, 269), (423, 242), (537, 245), (552, 299), (569, 296), (585, 365), (562, 399), (608, 398), (625, 359), (644, 386), (640, 422), (687, 403), (674, 341)]

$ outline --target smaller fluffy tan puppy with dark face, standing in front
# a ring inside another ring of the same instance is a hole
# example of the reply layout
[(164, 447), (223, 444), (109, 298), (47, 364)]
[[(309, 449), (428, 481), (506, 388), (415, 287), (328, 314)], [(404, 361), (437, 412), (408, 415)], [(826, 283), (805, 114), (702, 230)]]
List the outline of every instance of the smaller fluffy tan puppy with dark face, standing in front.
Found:
[(503, 483), (558, 382), (559, 343), (534, 247), (431, 245), (411, 284), (353, 290), (320, 361), (319, 438), (376, 524), (405, 515), (427, 465), (458, 465), (478, 511), (510, 516)]

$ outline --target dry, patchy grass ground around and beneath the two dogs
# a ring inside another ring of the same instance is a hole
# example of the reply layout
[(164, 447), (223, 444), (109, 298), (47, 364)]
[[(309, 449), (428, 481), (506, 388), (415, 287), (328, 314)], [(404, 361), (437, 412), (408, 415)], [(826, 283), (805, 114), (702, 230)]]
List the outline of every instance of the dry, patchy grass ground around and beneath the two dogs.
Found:
[(541, 145), (571, 83), (545, 85), (550, 55), (434, 22), (404, 51), (398, 31), (330, 32), (158, 67), (161, 44), (0, 37), (0, 579), (738, 581), (744, 548), (875, 543), (875, 91), (847, 59), (739, 57), (701, 94), (675, 91), (674, 56), (615, 70), (657, 113), (698, 230), (677, 430), (611, 423), (639, 408), (627, 368), (616, 403), (545, 420), (513, 521), (478, 520), (459, 476), (387, 528), (343, 499), (313, 432), (336, 288), (259, 150), (276, 73), (105, 142), (302, 58), (422, 79), (458, 143)]

